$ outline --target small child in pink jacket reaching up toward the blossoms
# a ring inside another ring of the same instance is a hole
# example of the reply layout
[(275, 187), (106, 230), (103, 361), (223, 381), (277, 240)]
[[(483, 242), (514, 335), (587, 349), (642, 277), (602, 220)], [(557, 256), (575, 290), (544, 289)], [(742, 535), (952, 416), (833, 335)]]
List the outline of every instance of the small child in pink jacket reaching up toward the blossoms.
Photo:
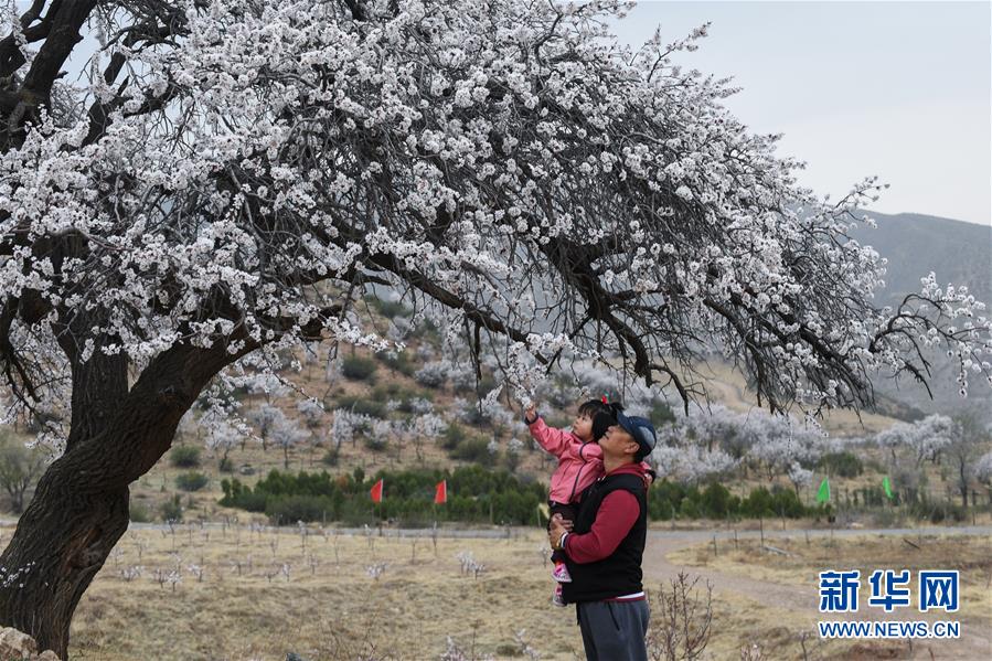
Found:
[[(586, 488), (602, 477), (602, 449), (596, 443), (610, 425), (616, 424), (615, 411), (622, 411), (619, 404), (607, 404), (606, 397), (589, 399), (578, 407), (572, 430), (548, 427), (531, 405), (524, 422), (531, 436), (541, 447), (558, 458), (558, 467), (551, 477), (548, 508), (551, 516), (575, 521), (576, 504)], [(552, 555), (555, 566), (552, 576), (557, 582), (552, 603), (565, 606), (562, 600), (562, 583), (569, 583), (572, 576), (565, 566), (565, 555), (555, 551)]]

